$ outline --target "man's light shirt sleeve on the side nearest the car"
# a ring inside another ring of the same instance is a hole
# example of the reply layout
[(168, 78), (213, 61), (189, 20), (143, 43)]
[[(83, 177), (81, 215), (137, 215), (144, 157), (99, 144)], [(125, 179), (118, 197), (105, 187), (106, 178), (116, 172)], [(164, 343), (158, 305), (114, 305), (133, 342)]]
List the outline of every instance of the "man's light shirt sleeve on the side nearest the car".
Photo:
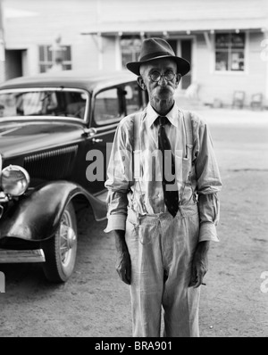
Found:
[(107, 194), (107, 226), (105, 233), (114, 229), (125, 230), (128, 208), (128, 193), (132, 181), (132, 135), (133, 122), (121, 120), (114, 136), (113, 147), (107, 169), (105, 187)]

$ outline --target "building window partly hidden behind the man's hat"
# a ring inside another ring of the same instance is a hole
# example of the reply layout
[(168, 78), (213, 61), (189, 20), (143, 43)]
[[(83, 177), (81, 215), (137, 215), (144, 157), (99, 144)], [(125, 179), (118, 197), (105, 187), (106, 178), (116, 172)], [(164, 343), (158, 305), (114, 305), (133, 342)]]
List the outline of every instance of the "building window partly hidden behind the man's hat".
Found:
[(121, 37), (121, 62), (122, 68), (126, 67), (127, 62), (138, 61), (140, 52), (140, 37), (122, 36)]

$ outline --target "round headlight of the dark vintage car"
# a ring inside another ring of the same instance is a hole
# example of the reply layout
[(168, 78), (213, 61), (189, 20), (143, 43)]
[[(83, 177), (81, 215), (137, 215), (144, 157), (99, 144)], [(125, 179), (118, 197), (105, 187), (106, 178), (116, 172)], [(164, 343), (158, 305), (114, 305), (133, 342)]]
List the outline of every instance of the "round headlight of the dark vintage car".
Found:
[(29, 174), (19, 165), (9, 165), (2, 170), (0, 186), (5, 194), (21, 196), (29, 186)]

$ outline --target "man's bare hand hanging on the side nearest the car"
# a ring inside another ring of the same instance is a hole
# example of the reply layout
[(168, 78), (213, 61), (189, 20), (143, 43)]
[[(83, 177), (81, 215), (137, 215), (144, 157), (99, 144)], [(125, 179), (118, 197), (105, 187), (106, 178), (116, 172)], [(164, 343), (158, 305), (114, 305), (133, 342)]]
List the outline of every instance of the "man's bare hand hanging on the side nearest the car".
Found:
[(131, 281), (131, 261), (128, 246), (125, 242), (125, 232), (115, 230), (115, 246), (117, 250), (116, 271), (121, 280), (130, 285)]

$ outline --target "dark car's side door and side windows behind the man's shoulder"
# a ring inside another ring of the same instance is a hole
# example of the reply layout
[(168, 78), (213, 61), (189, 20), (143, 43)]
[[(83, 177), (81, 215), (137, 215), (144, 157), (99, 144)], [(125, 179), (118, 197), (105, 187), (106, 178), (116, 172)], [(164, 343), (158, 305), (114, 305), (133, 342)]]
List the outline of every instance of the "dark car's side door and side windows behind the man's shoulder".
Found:
[(106, 168), (115, 130), (120, 120), (143, 107), (143, 98), (136, 81), (107, 87), (93, 97), (93, 114), (88, 129), (86, 177), (91, 193), (105, 191)]

